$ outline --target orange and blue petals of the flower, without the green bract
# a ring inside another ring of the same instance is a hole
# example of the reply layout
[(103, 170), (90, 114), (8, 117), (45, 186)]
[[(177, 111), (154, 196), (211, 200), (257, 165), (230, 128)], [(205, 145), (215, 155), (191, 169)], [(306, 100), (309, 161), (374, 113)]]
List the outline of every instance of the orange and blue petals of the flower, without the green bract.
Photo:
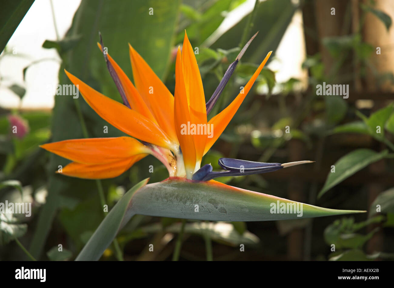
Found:
[[(194, 180), (264, 173), (293, 164), (312, 162), (266, 164), (221, 158), (219, 164), (227, 171), (213, 172), (209, 164), (200, 170), (203, 156), (225, 130), (272, 53), (271, 51), (267, 54), (234, 101), (207, 121), (208, 113), (256, 34), (242, 49), (236, 61), (230, 65), (207, 103), (194, 50), (186, 32), (183, 51), (181, 52), (178, 47), (177, 52), (175, 97), (131, 45), (130, 59), (135, 86), (113, 58), (104, 54), (124, 105), (95, 91), (65, 71), (71, 82), (77, 85), (86, 102), (103, 119), (134, 138), (72, 139), (48, 143), (41, 147), (73, 161), (62, 169), (63, 175), (88, 179), (116, 177), (148, 154), (152, 154), (165, 165), (170, 177)], [(99, 43), (98, 45), (101, 49), (102, 46)], [(188, 132), (184, 131), (186, 125), (189, 126)], [(190, 126), (199, 128), (199, 132), (197, 133), (196, 129), (190, 131)], [(210, 127), (212, 128), (208, 135), (207, 130), (209, 131)]]

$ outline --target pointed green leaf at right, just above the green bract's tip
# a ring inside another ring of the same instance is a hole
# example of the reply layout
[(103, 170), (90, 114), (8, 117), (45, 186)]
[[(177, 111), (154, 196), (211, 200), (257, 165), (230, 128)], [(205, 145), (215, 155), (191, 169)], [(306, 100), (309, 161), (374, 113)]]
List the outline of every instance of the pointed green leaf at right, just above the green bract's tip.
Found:
[(335, 173), (331, 173), (330, 171), (322, 190), (320, 190), (318, 194), (318, 198), (322, 197), (325, 192), (346, 178), (350, 177), (357, 171), (360, 171), (362, 168), (368, 166), (371, 163), (385, 158), (387, 155), (387, 150), (378, 153), (371, 149), (357, 149), (346, 154), (337, 162), (335, 162)]

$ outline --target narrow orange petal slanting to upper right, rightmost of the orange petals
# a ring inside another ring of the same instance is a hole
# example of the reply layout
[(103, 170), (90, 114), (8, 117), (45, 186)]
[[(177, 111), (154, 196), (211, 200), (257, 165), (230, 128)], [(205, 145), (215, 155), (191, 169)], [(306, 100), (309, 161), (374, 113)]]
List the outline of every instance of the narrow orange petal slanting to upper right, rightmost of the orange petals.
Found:
[(223, 111), (221, 111), (219, 114), (216, 116), (212, 117), (212, 119), (209, 121), (209, 124), (212, 124), (212, 137), (206, 139), (206, 144), (205, 144), (205, 150), (204, 154), (208, 152), (208, 150), (214, 145), (216, 142), (217, 138), (222, 134), (222, 132), (225, 130), (227, 127), (227, 124), (229, 124), (230, 120), (242, 104), (243, 99), (245, 99), (247, 93), (251, 89), (252, 85), (255, 83), (256, 78), (258, 74), (260, 74), (261, 70), (263, 69), (264, 65), (266, 64), (269, 56), (271, 55), (272, 51), (270, 51), (264, 61), (260, 64), (260, 66), (257, 68), (256, 72), (253, 74), (252, 78), (247, 82), (245, 87), (243, 88), (243, 93), (239, 93), (238, 96), (230, 103), (229, 106), (227, 106)]

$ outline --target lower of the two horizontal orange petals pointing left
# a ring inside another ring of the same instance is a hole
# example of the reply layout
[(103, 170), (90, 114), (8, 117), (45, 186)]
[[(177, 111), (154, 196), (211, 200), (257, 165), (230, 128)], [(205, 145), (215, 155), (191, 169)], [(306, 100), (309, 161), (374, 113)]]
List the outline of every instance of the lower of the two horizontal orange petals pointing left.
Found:
[(117, 162), (106, 164), (81, 164), (71, 162), (63, 168), (63, 171), (56, 173), (64, 174), (71, 177), (84, 178), (84, 179), (106, 179), (113, 178), (121, 175), (129, 169), (134, 163), (141, 160), (148, 154), (138, 154), (127, 159)]

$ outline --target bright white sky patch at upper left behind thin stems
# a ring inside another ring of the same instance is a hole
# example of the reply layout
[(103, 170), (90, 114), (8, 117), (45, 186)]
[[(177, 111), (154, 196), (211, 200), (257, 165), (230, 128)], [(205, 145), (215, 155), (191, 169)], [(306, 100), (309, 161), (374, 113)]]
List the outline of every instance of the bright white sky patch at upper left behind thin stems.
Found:
[[(71, 26), (72, 17), (81, 0), (53, 1), (59, 36), (64, 37)], [(45, 49), (42, 45), (46, 39), (56, 40), (52, 12), (49, 0), (35, 1), (20, 22), (7, 43), (15, 48), (17, 55), (4, 56), (0, 61), (0, 106), (3, 108), (53, 108), (54, 93), (48, 94), (48, 85), (56, 87), (60, 58), (54, 48)], [(55, 60), (43, 61), (32, 65), (23, 82), (23, 69), (33, 61), (43, 58)], [(18, 84), (25, 87), (26, 94), (20, 103), (19, 97), (7, 89), (9, 85)]]

